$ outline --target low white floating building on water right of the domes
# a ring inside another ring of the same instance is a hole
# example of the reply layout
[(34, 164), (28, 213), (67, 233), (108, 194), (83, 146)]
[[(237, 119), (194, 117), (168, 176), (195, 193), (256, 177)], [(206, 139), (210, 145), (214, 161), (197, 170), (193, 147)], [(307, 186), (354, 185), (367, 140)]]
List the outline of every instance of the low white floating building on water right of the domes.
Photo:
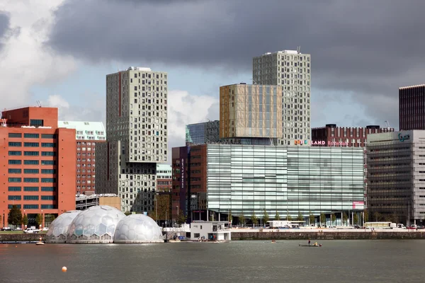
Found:
[(227, 221), (193, 221), (191, 240), (230, 241), (232, 239)]

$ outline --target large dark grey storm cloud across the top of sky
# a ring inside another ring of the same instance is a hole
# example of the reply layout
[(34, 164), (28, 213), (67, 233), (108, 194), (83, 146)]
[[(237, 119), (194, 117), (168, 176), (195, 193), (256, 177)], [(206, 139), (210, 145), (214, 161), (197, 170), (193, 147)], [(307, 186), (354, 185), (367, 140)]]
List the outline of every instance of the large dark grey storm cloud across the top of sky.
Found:
[(313, 87), (394, 102), (399, 86), (424, 83), (423, 11), (421, 0), (68, 1), (48, 43), (92, 62), (248, 72), (252, 57), (300, 45)]

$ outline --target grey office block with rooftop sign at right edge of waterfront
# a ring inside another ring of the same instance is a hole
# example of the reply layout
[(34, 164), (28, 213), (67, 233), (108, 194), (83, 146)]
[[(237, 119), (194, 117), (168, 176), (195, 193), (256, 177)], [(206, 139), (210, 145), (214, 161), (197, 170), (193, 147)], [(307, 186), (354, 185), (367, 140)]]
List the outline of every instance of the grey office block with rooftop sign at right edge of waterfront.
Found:
[(423, 224), (425, 131), (370, 134), (367, 149), (370, 219)]

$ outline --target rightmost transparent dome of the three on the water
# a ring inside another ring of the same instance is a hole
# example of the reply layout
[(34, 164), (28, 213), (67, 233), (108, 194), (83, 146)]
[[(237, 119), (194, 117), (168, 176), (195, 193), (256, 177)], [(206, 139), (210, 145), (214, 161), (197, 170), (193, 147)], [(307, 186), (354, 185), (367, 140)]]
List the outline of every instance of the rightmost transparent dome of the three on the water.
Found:
[(114, 243), (164, 243), (162, 230), (144, 214), (130, 214), (118, 222)]

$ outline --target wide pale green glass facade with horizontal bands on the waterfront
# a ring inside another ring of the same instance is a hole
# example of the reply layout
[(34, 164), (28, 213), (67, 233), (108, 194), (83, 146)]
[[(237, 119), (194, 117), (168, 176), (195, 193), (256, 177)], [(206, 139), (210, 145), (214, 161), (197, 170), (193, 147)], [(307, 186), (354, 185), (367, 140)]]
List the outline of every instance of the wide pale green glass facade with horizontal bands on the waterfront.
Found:
[(210, 211), (294, 219), (363, 209), (362, 148), (212, 144), (207, 156)]

